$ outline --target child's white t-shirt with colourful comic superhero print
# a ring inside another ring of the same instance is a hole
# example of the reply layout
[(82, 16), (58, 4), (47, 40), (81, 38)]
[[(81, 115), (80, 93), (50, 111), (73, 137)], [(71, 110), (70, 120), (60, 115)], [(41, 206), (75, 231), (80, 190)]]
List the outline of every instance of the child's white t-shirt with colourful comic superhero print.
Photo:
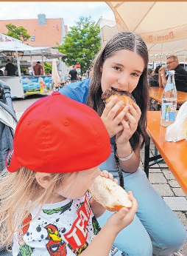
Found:
[[(87, 192), (82, 198), (45, 204), (39, 215), (39, 208), (31, 211), (15, 232), (13, 256), (80, 255), (100, 230), (90, 198)], [(109, 255), (116, 252), (113, 246)]]

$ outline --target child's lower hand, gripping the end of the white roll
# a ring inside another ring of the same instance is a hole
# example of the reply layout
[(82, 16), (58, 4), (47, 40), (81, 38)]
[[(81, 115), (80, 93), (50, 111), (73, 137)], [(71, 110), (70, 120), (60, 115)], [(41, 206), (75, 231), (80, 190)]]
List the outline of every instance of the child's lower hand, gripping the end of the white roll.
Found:
[(133, 206), (130, 209), (123, 207), (119, 210), (119, 212), (115, 212), (110, 216), (110, 218), (107, 219), (106, 225), (110, 230), (113, 230), (116, 235), (118, 235), (122, 229), (133, 222), (135, 212), (138, 209), (138, 203), (133, 197), (133, 192), (129, 191), (128, 195), (130, 201), (133, 203)]

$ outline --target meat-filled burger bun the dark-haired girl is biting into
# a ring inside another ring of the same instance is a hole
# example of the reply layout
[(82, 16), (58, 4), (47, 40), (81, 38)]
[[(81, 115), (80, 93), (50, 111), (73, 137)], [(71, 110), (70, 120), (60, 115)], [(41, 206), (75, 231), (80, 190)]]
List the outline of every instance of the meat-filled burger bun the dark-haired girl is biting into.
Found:
[[(119, 113), (124, 109), (126, 104), (130, 104), (133, 106), (133, 103), (135, 102), (135, 98), (133, 98), (133, 95), (130, 92), (125, 92), (125, 91), (119, 91), (116, 89), (112, 90), (105, 90), (105, 92), (102, 93), (102, 100), (108, 104), (114, 97), (118, 97), (118, 101), (124, 101), (124, 104), (121, 106), (118, 112), (116, 112), (116, 116), (119, 115)], [(130, 113), (128, 110), (127, 112)], [(116, 117), (115, 116), (115, 117)], [(124, 116), (124, 121), (127, 121), (127, 117)]]

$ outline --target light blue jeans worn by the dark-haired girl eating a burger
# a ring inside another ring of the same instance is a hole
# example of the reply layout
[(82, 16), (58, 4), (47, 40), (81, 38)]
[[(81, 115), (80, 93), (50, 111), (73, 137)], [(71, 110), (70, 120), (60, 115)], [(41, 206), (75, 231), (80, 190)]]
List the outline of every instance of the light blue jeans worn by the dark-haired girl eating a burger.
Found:
[[(118, 178), (113, 152), (99, 167), (110, 170)], [(133, 192), (138, 201), (138, 211), (133, 223), (117, 235), (113, 245), (130, 256), (152, 256), (152, 253), (169, 256), (177, 252), (186, 241), (186, 229), (149, 183), (145, 172), (141, 168), (134, 173), (124, 172), (124, 187), (126, 191)], [(112, 214), (106, 210), (98, 218), (99, 225), (104, 226)]]

